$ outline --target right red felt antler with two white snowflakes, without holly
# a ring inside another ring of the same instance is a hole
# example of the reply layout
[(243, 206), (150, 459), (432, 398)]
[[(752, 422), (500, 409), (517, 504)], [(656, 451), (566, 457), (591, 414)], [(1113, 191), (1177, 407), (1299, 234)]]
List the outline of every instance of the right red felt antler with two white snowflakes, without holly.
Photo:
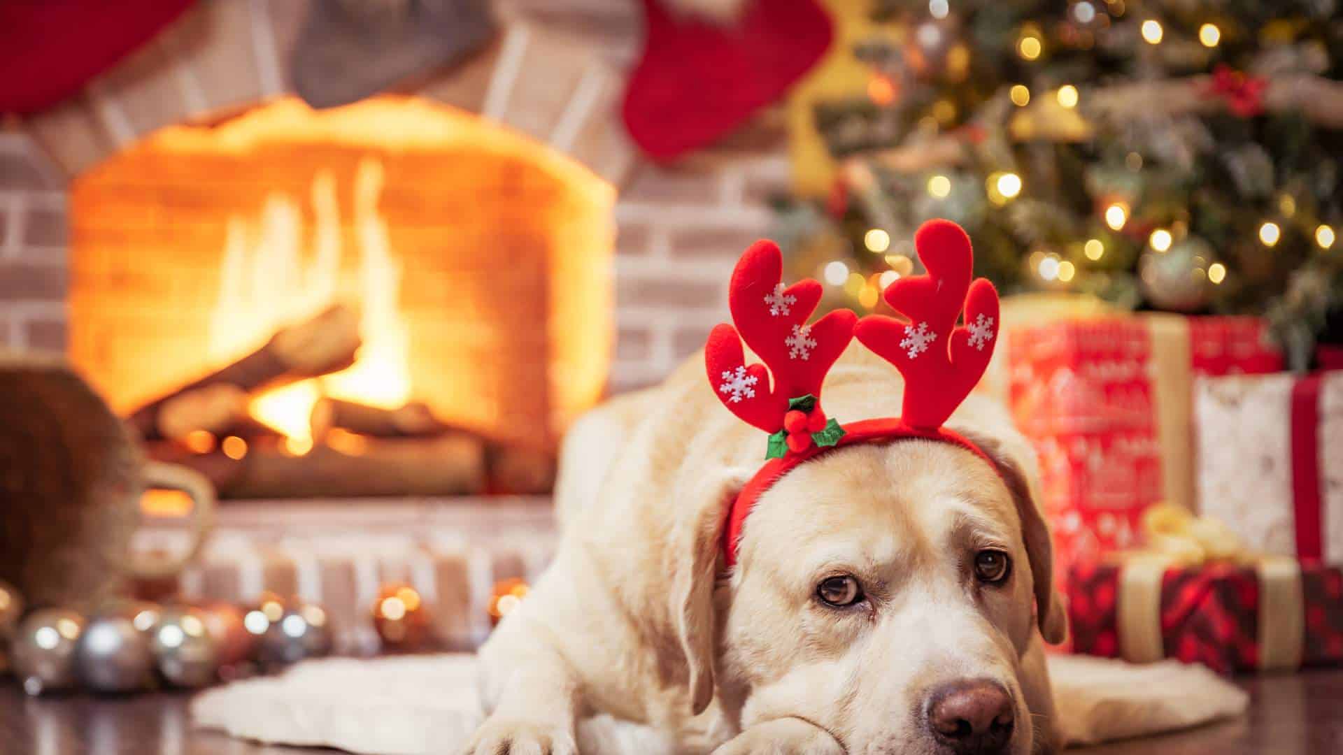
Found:
[[(928, 274), (896, 281), (885, 294), (909, 322), (870, 314), (854, 335), (905, 376), (904, 423), (935, 430), (988, 367), (998, 340), (998, 292), (984, 278), (970, 281), (970, 236), (951, 220), (924, 223), (915, 247)], [(966, 320), (956, 326), (962, 308)]]

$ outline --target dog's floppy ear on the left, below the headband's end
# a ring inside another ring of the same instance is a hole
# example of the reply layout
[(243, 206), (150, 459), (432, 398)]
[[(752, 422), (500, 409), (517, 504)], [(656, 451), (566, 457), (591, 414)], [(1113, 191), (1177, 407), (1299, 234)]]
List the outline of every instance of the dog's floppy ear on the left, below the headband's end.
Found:
[(670, 611), (690, 674), (690, 705), (700, 715), (713, 700), (717, 617), (713, 588), (723, 564), (723, 527), (749, 473), (723, 470), (688, 485), (688, 515), (672, 533)]

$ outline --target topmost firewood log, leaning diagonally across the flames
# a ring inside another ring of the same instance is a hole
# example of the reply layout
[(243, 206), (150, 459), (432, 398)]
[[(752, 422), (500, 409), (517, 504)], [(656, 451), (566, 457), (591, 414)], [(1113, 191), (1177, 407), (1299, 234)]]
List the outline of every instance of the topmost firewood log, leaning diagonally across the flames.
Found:
[(344, 369), (355, 363), (359, 347), (359, 312), (333, 305), (306, 322), (277, 330), (266, 345), (238, 361), (137, 408), (129, 422), (148, 441), (210, 430), (205, 423), (236, 414), (239, 395)]

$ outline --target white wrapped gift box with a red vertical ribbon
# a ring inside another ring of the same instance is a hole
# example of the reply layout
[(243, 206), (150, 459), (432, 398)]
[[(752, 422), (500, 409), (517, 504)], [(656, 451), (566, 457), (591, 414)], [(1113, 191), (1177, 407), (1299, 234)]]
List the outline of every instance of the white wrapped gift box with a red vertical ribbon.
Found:
[(1265, 553), (1343, 563), (1343, 371), (1203, 378), (1199, 510)]

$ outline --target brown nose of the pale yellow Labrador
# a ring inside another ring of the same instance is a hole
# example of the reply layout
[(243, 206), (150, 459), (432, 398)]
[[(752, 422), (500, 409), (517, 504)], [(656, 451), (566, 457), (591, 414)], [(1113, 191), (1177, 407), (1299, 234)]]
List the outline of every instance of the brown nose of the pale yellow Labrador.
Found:
[(954, 681), (928, 700), (928, 728), (948, 750), (956, 755), (1006, 752), (1017, 716), (1001, 684)]

